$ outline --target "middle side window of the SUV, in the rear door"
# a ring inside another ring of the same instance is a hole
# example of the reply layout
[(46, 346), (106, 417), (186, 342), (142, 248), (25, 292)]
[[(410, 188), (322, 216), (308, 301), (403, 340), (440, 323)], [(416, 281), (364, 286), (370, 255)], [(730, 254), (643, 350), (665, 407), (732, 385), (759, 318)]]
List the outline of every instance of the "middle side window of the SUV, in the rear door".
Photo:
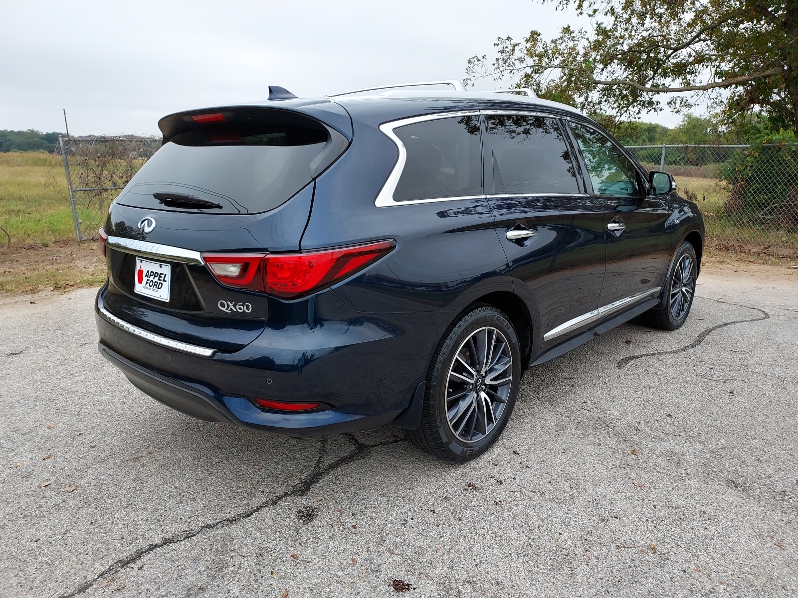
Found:
[(543, 116), (488, 116), (494, 193), (579, 193), (562, 129)]

